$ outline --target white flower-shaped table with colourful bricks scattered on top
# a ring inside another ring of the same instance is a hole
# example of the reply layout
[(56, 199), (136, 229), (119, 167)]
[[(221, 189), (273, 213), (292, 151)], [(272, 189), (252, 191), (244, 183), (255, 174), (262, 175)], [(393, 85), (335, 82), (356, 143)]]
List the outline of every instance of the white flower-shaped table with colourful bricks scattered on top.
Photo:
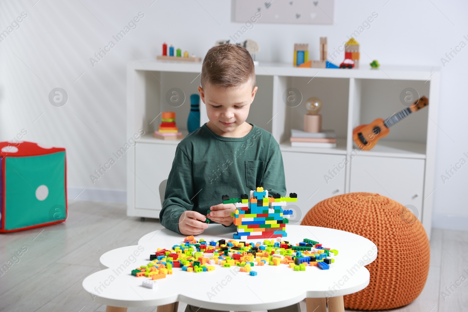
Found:
[[(217, 241), (232, 239), (233, 229), (210, 225), (196, 239)], [(111, 250), (100, 258), (101, 267), (86, 277), (83, 288), (93, 300), (107, 305), (107, 311), (126, 311), (117, 307), (158, 306), (158, 311), (172, 311), (178, 301), (207, 309), (251, 311), (276, 309), (307, 298), (307, 305), (320, 306), (316, 312), (344, 311), (343, 295), (364, 289), (369, 271), (364, 267), (377, 258), (375, 244), (362, 236), (329, 228), (288, 225), (287, 238), (295, 244), (303, 239), (317, 240), (324, 247), (338, 250), (328, 270), (307, 266), (294, 271), (285, 264), (254, 266), (257, 276), (239, 272), (238, 267), (214, 265), (211, 272), (185, 272), (173, 268), (173, 274), (157, 280), (155, 289), (142, 286), (145, 277), (131, 275), (132, 269), (146, 265), (157, 248), (171, 249), (183, 243), (184, 236), (162, 229), (146, 234), (135, 246)], [(262, 241), (249, 239), (247, 241)], [(243, 240), (242, 240), (243, 241)], [(325, 309), (325, 310), (323, 310)], [(312, 311), (311, 310), (311, 311)]]

